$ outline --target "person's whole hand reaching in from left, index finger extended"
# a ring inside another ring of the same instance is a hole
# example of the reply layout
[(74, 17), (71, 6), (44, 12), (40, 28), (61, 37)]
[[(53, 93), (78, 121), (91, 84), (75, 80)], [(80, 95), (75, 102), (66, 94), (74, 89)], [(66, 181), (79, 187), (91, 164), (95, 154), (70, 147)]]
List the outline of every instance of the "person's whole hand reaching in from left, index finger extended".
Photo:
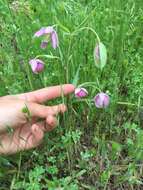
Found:
[[(43, 103), (73, 91), (73, 85), (65, 84), (0, 97), (0, 154), (14, 154), (38, 146), (44, 133), (56, 127), (56, 116), (67, 110), (64, 104), (45, 106)], [(30, 119), (23, 108), (28, 109)], [(8, 132), (9, 127), (12, 133)]]

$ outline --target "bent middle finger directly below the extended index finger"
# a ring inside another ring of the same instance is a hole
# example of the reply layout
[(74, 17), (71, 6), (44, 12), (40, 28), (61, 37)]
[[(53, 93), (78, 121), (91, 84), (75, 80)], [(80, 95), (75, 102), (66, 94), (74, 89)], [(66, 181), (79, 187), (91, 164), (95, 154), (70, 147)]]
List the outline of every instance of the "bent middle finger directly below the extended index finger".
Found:
[(47, 118), (48, 115), (57, 115), (66, 111), (64, 104), (56, 106), (44, 106), (36, 103), (28, 103), (27, 105), (32, 117)]

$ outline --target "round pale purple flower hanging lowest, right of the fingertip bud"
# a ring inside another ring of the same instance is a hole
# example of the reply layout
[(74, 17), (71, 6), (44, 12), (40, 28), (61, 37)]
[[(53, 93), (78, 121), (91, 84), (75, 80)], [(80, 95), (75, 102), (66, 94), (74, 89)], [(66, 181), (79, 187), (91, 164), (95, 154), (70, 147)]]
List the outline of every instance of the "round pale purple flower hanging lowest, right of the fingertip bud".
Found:
[(109, 105), (110, 98), (104, 92), (100, 92), (94, 97), (94, 102), (97, 108), (106, 108)]

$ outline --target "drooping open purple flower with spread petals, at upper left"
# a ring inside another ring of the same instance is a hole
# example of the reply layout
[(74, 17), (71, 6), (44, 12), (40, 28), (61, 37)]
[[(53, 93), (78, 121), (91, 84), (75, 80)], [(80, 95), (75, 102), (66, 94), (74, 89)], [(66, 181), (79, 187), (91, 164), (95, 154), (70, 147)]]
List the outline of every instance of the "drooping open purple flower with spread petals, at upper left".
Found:
[(49, 38), (52, 43), (52, 47), (54, 49), (56, 49), (59, 46), (57, 32), (54, 30), (54, 28), (52, 26), (42, 27), (40, 30), (38, 30), (34, 34), (34, 37), (40, 37), (40, 36), (45, 37), (45, 40), (41, 42), (41, 48), (46, 48)]

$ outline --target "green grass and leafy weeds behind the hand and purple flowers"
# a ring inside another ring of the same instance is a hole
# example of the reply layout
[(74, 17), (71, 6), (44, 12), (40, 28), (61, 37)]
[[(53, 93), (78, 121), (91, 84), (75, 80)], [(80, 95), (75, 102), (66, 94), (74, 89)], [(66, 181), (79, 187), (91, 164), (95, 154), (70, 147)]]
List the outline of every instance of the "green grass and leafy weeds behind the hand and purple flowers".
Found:
[[(60, 49), (49, 44), (41, 50), (33, 34), (50, 25), (56, 25)], [(78, 85), (95, 82), (111, 99), (102, 110), (86, 99), (65, 98), (68, 112), (40, 147), (0, 158), (0, 189), (143, 188), (142, 26), (142, 0), (0, 0), (1, 96), (71, 83), (81, 64)], [(93, 28), (107, 48), (102, 73), (94, 64), (93, 33), (72, 35), (82, 27)], [(35, 75), (28, 62), (40, 54), (60, 60), (43, 58), (46, 68)], [(88, 99), (98, 93), (87, 89)]]

